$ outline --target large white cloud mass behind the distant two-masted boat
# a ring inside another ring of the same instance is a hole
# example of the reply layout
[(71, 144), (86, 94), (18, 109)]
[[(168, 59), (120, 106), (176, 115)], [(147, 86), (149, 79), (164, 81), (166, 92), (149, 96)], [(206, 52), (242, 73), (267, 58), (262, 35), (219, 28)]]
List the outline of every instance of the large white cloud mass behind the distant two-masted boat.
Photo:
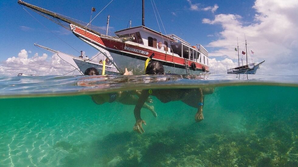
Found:
[[(239, 45), (242, 45), (245, 34), (249, 43), (248, 52), (255, 52), (252, 55), (255, 62), (265, 60), (258, 74), (297, 74), (298, 1), (256, 0), (253, 8), (257, 14), (250, 24), (240, 15), (232, 14), (219, 14), (213, 20), (202, 20), (203, 23), (219, 24), (223, 28), (220, 38), (209, 43), (209, 47), (215, 48), (209, 55), (233, 58), (237, 37)], [(244, 48), (241, 46), (239, 50)]]

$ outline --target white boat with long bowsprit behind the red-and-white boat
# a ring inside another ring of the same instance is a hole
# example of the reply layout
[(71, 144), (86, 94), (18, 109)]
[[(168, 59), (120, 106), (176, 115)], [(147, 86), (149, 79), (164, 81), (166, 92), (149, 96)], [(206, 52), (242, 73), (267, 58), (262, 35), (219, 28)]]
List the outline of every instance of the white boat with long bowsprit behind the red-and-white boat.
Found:
[[(41, 45), (34, 44), (35, 46), (44, 48), (52, 53), (56, 53), (62, 60), (65, 62), (69, 63), (73, 67), (75, 67), (76, 70), (78, 70), (82, 75), (84, 75), (84, 72), (87, 68), (94, 67), (98, 70), (99, 74), (102, 74), (102, 66), (103, 64), (93, 62), (92, 60), (89, 60), (89, 58), (80, 58), (80, 57), (75, 57), (73, 55), (68, 55), (66, 53), (62, 53), (60, 51), (53, 50), (51, 48), (47, 48)], [(113, 60), (112, 57), (108, 58), (109, 60)], [(119, 74), (119, 71), (113, 64), (114, 62), (111, 61), (111, 63), (105, 65), (105, 74)]]

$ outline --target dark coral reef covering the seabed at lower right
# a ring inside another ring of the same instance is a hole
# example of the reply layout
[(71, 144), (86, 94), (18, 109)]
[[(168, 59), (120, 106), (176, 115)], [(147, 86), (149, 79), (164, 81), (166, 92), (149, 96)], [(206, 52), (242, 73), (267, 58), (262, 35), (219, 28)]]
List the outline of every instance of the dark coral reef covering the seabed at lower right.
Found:
[[(222, 132), (206, 124), (192, 124), (143, 135), (111, 133), (77, 156), (89, 157), (89, 166), (298, 166), (298, 137), (293, 126), (264, 120), (254, 127)], [(71, 164), (78, 164), (74, 163), (77, 160), (73, 157)]]

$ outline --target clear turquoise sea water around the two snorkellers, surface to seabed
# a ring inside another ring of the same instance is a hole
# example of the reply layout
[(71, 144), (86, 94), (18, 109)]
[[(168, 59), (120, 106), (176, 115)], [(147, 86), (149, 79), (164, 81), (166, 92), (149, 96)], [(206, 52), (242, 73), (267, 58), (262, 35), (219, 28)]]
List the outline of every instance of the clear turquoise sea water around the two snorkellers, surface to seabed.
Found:
[[(155, 118), (90, 95), (198, 89), (204, 119), (152, 96)], [(22, 76), (0, 78), (0, 166), (298, 166), (298, 76)]]

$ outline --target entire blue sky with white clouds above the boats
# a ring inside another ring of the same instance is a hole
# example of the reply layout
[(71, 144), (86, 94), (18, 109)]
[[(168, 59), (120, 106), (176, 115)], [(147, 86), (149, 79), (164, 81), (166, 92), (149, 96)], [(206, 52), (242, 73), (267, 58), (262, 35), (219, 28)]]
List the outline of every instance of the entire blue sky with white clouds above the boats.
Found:
[[(106, 27), (110, 15), (110, 31), (127, 28), (129, 20), (132, 26), (142, 24), (141, 0), (24, 1), (84, 22), (90, 21), (91, 8), (95, 7), (92, 18), (99, 15), (92, 25)], [(160, 28), (151, 2), (155, 2), (160, 14)], [(297, 11), (297, 0), (145, 0), (145, 26), (175, 34), (192, 45), (202, 44), (209, 52), (211, 73), (224, 74), (228, 68), (236, 67), (237, 39), (241, 59), (241, 52), (246, 52), (246, 38), (248, 63), (265, 60), (257, 74), (294, 75), (298, 73)], [(63, 75), (73, 70), (57, 55), (34, 43), (72, 55), (79, 56), (81, 50), (91, 58), (98, 54), (70, 31), (18, 5), (17, 0), (0, 1), (0, 12), (0, 76)]]

